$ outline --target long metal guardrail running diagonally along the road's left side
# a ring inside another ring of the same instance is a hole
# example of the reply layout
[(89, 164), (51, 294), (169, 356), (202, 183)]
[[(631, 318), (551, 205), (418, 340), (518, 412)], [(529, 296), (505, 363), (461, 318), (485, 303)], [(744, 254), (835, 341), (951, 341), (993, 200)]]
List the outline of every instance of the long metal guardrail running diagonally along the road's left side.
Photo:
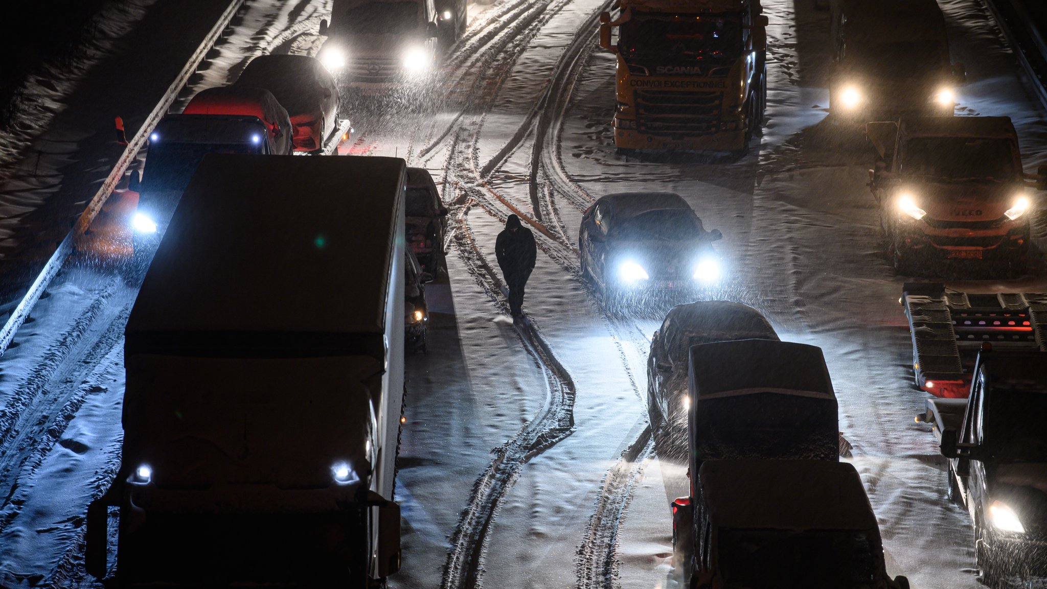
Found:
[(58, 249), (47, 260), (47, 264), (44, 265), (43, 271), (41, 271), (40, 275), (37, 276), (37, 279), (32, 281), (28, 292), (25, 293), (25, 296), (22, 297), (22, 300), (18, 303), (15, 310), (12, 311), (10, 317), (7, 318), (7, 322), (4, 323), (3, 329), (0, 330), (0, 356), (3, 356), (4, 352), (7, 350), (7, 346), (10, 345), (12, 340), (15, 339), (15, 332), (17, 332), (18, 329), (22, 326), (22, 323), (24, 323), (29, 317), (29, 312), (32, 311), (32, 307), (38, 300), (40, 300), (40, 295), (44, 293), (47, 286), (51, 284), (54, 276), (57, 276), (59, 271), (62, 270), (62, 266), (65, 264), (66, 258), (69, 257), (75, 249), (76, 240), (79, 240), (87, 231), (87, 228), (91, 226), (91, 222), (94, 221), (98, 211), (102, 210), (102, 205), (106, 204), (109, 196), (113, 192), (113, 188), (115, 188), (116, 184), (124, 178), (124, 174), (127, 172), (128, 165), (130, 165), (131, 161), (138, 155), (138, 150), (146, 144), (146, 139), (149, 137), (149, 134), (152, 133), (153, 128), (156, 127), (156, 123), (159, 122), (165, 114), (168, 114), (168, 109), (170, 109), (171, 105), (178, 99), (178, 93), (185, 87), (190, 76), (196, 72), (197, 67), (201, 62), (203, 62), (207, 51), (210, 51), (210, 49), (215, 46), (215, 43), (222, 36), (222, 31), (229, 25), (232, 17), (236, 16), (246, 1), (247, 0), (232, 0), (229, 2), (228, 7), (226, 7), (225, 12), (222, 13), (221, 18), (219, 18), (215, 26), (211, 27), (207, 37), (204, 38), (200, 46), (197, 47), (193, 56), (190, 58), (185, 67), (182, 68), (182, 71), (178, 74), (178, 77), (171, 83), (171, 86), (168, 88), (163, 98), (161, 98), (156, 107), (153, 108), (153, 112), (151, 112), (149, 117), (146, 118), (141, 128), (138, 129), (137, 133), (135, 133), (134, 138), (128, 141), (127, 149), (124, 150), (124, 154), (120, 155), (120, 158), (116, 161), (116, 165), (113, 166), (112, 172), (109, 173), (109, 177), (102, 183), (102, 186), (98, 188), (98, 191), (95, 192), (94, 198), (92, 198), (91, 202), (88, 203), (84, 212), (80, 214), (80, 218), (76, 220), (72, 229), (66, 233), (65, 239), (62, 240)]

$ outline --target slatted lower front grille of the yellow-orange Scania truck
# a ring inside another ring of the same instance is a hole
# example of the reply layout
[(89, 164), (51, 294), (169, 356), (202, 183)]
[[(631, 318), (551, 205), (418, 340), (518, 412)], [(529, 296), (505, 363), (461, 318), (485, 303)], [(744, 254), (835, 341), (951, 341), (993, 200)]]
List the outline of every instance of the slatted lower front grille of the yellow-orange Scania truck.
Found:
[(716, 132), (722, 92), (637, 90), (637, 130), (662, 135), (708, 135)]

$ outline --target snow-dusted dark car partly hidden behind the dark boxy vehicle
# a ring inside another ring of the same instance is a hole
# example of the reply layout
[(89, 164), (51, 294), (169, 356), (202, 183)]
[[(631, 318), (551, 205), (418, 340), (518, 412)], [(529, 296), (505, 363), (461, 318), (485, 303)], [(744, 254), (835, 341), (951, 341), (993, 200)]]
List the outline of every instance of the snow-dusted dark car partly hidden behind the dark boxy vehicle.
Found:
[(677, 304), (651, 337), (647, 357), (647, 414), (651, 425), (665, 425), (683, 435), (687, 429), (688, 358), (692, 345), (764, 339), (778, 334), (762, 313), (727, 300)]

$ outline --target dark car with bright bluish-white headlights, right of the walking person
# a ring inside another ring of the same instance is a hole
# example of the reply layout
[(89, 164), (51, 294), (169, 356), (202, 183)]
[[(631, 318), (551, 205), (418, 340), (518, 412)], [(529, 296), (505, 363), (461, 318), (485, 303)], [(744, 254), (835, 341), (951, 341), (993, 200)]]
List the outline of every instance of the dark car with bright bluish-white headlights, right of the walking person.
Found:
[(582, 275), (609, 310), (651, 296), (692, 299), (720, 278), (712, 242), (722, 236), (716, 229), (706, 231), (680, 195), (607, 195), (582, 214)]

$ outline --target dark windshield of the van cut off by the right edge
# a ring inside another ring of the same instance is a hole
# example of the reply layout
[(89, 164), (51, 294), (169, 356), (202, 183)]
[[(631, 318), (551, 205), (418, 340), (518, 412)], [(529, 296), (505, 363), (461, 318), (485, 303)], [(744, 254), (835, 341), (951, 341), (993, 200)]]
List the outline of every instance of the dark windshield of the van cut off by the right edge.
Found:
[[(992, 453), (1008, 462), (1047, 462), (1047, 391), (994, 390), (985, 433)], [(996, 427), (994, 427), (994, 425)]]

